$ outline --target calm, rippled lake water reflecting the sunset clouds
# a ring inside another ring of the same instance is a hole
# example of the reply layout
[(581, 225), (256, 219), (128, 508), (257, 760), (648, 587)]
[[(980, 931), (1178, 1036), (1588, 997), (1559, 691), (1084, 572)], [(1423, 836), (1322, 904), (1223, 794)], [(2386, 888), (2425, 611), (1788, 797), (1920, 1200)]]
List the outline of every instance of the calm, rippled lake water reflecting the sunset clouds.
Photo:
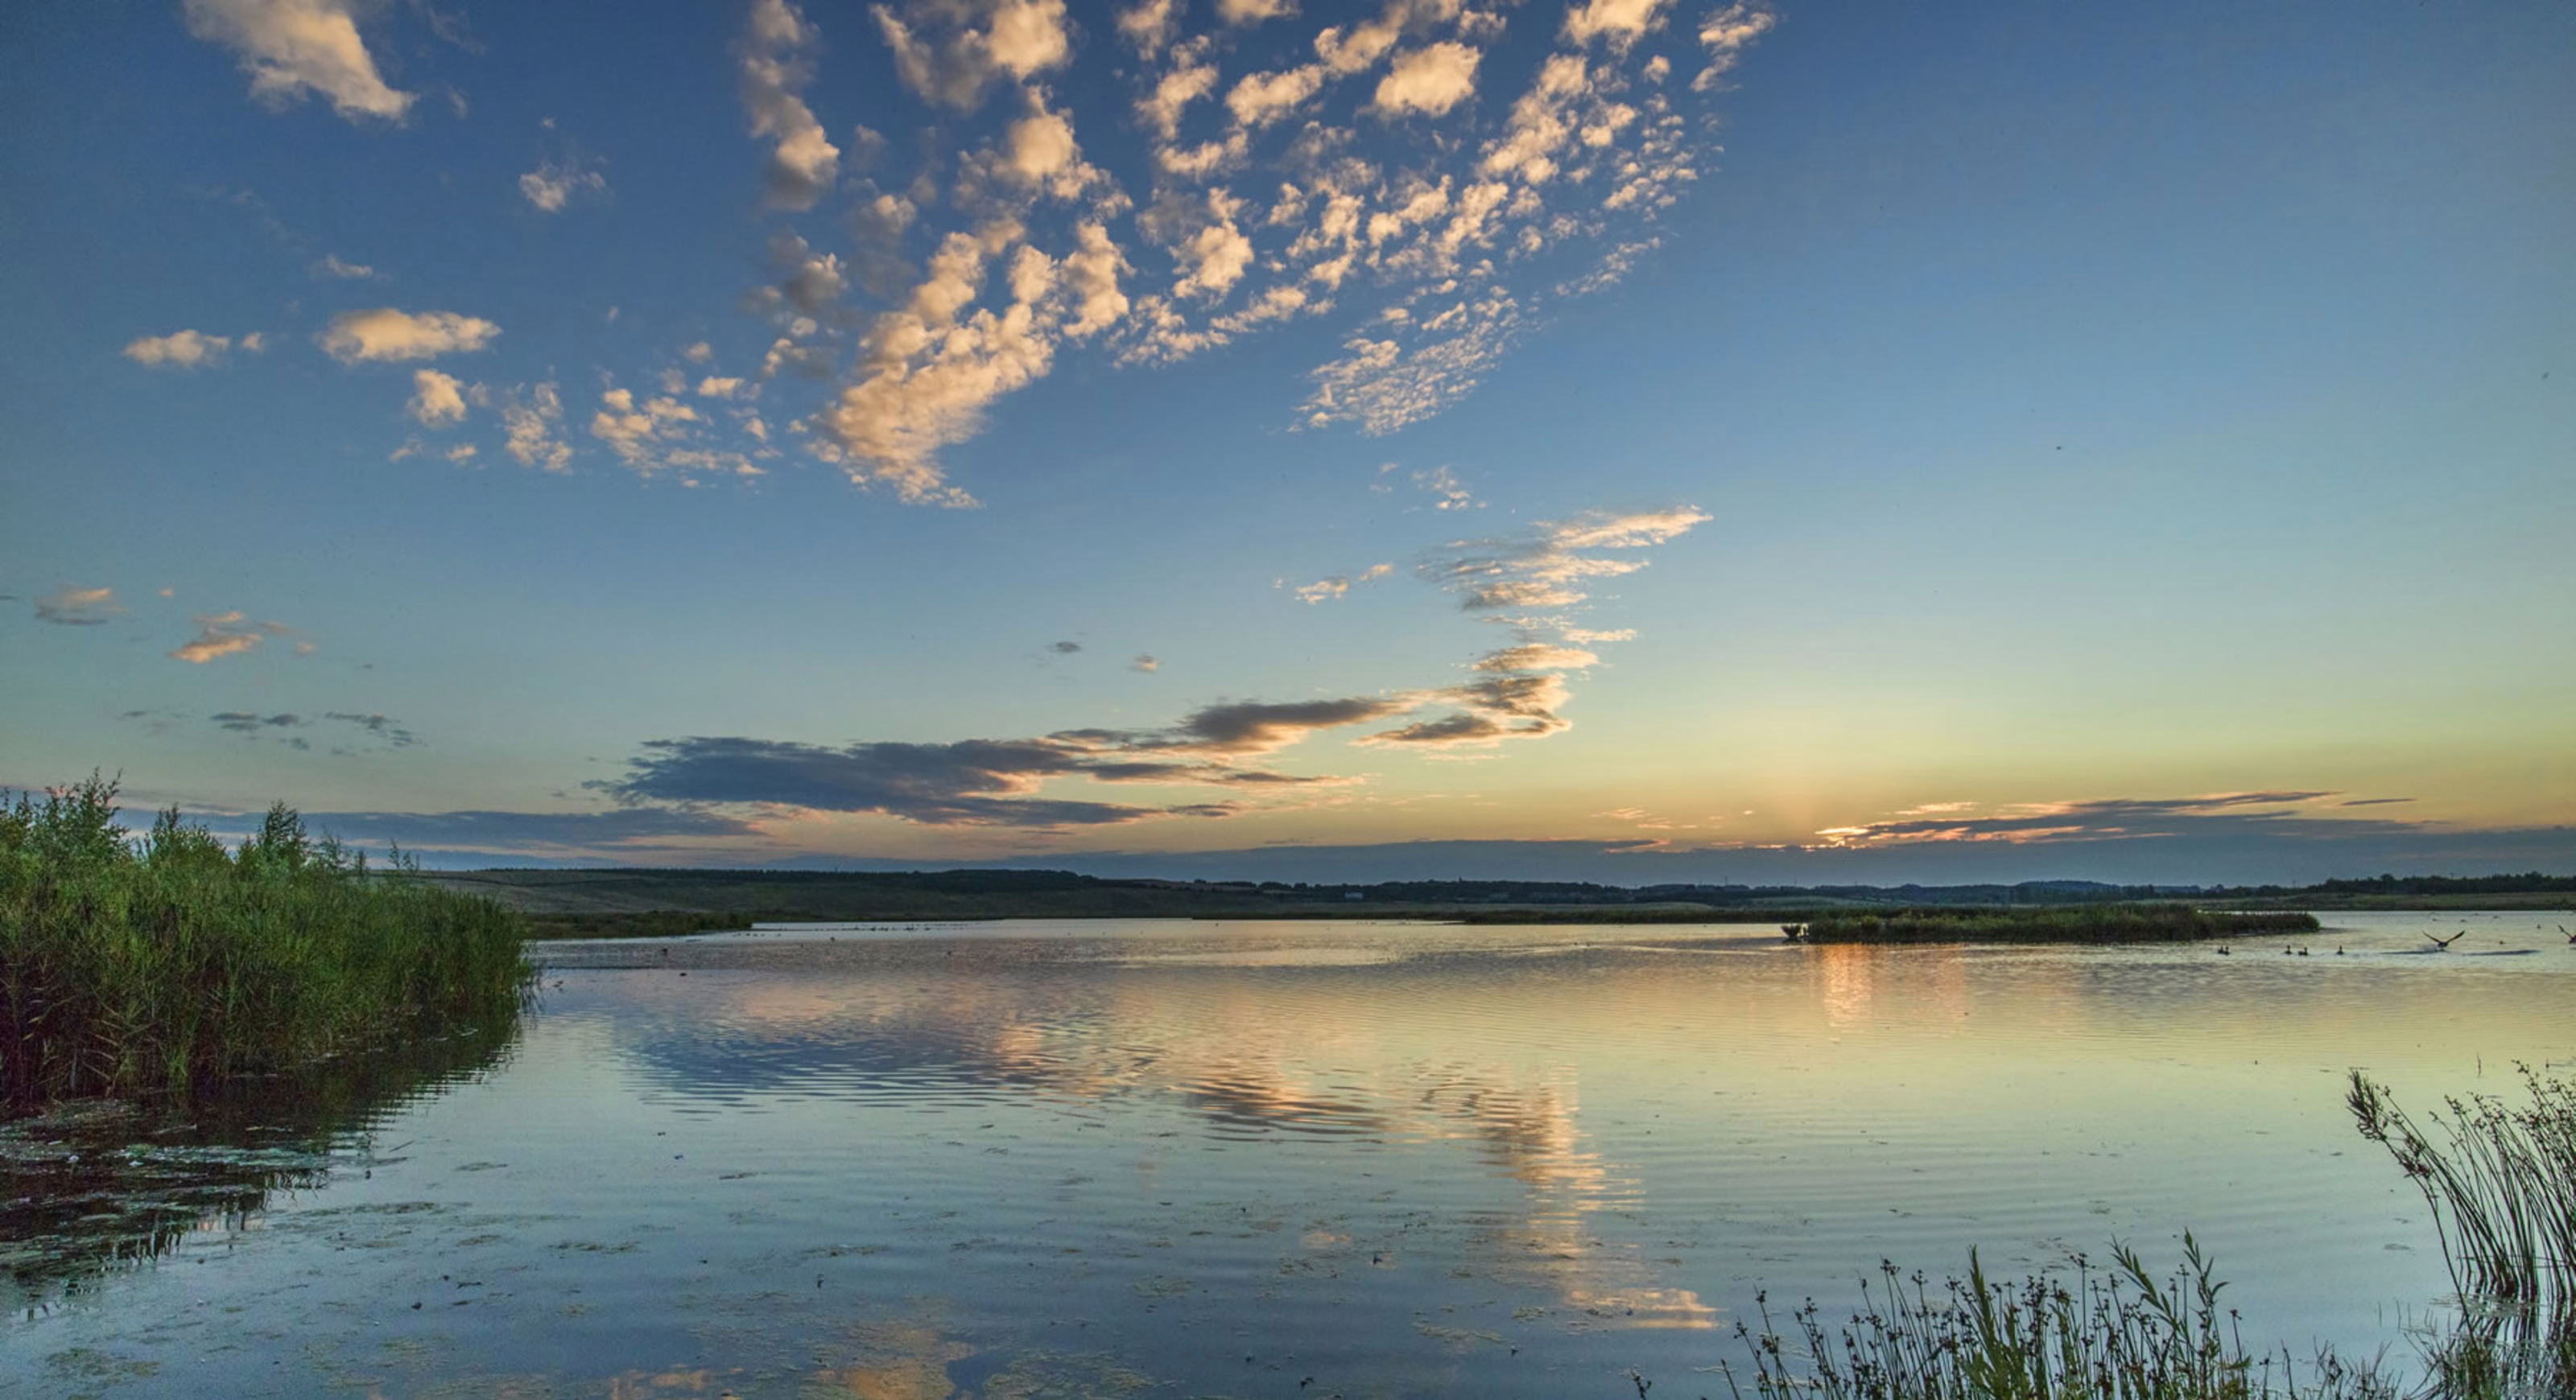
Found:
[(2308, 957), (1345, 921), (551, 944), (502, 1063), (157, 1264), (21, 1289), (0, 1395), (1723, 1395), (1765, 1287), (1842, 1310), (1880, 1258), (2161, 1264), (2184, 1228), (2251, 1343), (2403, 1359), (2442, 1261), (2342, 1076), (2432, 1104), (2576, 1068), (2555, 919), (2331, 916)]

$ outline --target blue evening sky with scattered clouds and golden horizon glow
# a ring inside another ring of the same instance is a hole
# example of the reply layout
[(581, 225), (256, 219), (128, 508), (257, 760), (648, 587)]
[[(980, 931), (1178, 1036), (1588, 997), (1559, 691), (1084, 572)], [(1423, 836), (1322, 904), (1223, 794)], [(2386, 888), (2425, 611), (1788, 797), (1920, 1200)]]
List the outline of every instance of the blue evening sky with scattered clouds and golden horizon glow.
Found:
[(13, 5), (0, 785), (2576, 870), (2576, 10), (1479, 3)]

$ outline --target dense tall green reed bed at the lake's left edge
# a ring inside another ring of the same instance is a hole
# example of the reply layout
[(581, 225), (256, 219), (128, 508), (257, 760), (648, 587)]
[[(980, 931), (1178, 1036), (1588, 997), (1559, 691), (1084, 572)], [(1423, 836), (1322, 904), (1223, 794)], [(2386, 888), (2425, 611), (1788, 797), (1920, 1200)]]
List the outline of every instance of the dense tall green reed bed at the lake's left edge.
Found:
[(0, 1112), (196, 1096), (515, 1009), (523, 921), (312, 839), (270, 808), (227, 852), (142, 839), (98, 777), (0, 808)]

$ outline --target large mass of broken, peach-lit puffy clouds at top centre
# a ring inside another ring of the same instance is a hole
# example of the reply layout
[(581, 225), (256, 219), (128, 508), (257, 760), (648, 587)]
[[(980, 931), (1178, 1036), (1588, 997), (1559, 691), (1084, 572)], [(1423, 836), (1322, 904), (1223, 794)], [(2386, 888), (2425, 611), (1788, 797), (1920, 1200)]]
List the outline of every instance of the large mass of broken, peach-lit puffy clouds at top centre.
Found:
[[(817, 44), (804, 15), (778, 3), (760, 15), (775, 44), (752, 49)], [(1298, 427), (1399, 432), (1473, 394), (1553, 301), (1613, 286), (1662, 244), (1651, 224), (1698, 180), (1713, 131), (1662, 82), (1672, 57), (1654, 49), (1690, 44), (1662, 36), (1664, 15), (1584, 0), (1535, 72), (1515, 64), (1510, 118), (1479, 129), (1471, 98), (1504, 95), (1484, 64), (1499, 13), (1386, 0), (1376, 18), (1252, 51), (1213, 5), (1131, 3), (1115, 15), (1126, 44), (1084, 54), (1131, 64), (1149, 162), (1126, 175), (1084, 160), (1077, 108), (1046, 85), (1077, 59), (1061, 0), (873, 5), (912, 95), (976, 111), (999, 88), (1010, 111), (951, 131), (953, 154), (922, 154), (899, 185), (863, 180), (845, 250), (783, 232), (801, 257), (755, 296), (773, 319), (760, 378), (842, 376), (791, 432), (858, 486), (966, 507), (943, 453), (1074, 342), (1151, 365), (1358, 309), (1311, 371)], [(1370, 131), (1368, 113), (1388, 129)]]

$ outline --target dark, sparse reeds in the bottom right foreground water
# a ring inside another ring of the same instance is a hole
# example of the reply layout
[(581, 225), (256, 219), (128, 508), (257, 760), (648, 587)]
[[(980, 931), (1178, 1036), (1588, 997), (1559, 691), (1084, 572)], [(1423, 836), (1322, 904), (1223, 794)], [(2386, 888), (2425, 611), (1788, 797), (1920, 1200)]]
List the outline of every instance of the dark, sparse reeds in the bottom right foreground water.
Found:
[[(2156, 1284), (2112, 1246), (2112, 1269), (2081, 1256), (2074, 1279), (1968, 1279), (1940, 1289), (1880, 1264), (1862, 1307), (1826, 1328), (1814, 1300), (1783, 1336), (1736, 1325), (1757, 1400), (2568, 1400), (2576, 1397), (2576, 1081), (2522, 1068), (2530, 1107), (2447, 1099), (2434, 1132), (2354, 1073), (2347, 1094), (2362, 1138), (2391, 1150), (2424, 1192), (2458, 1292), (2447, 1331), (2421, 1336), (2421, 1377), (2401, 1387), (2378, 1361), (2321, 1351), (2251, 1356), (2223, 1282), (2192, 1235)], [(1728, 1392), (1741, 1400), (1734, 1369)], [(1638, 1395), (1651, 1382), (1636, 1377)]]

